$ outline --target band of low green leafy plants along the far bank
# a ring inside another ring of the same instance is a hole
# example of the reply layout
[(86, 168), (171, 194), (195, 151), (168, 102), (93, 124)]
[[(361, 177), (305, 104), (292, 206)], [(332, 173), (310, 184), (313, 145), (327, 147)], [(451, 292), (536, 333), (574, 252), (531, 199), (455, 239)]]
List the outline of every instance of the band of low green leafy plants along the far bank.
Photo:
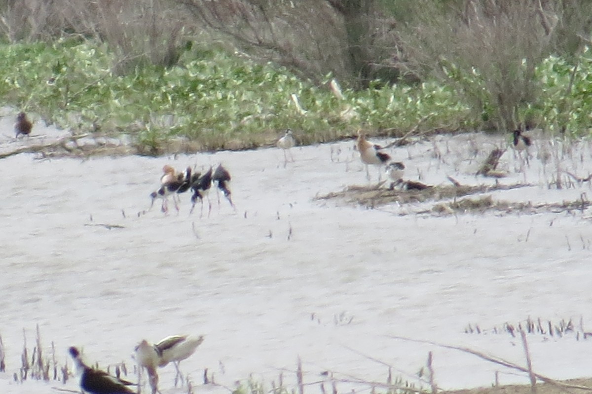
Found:
[[(484, 127), (495, 106), (485, 77), (452, 63), (443, 69), (456, 85), (377, 81), (368, 89), (344, 89), (341, 96), (339, 86), (329, 88), (330, 75), (316, 86), (284, 67), (213, 47), (186, 51), (177, 66), (144, 65), (124, 75), (112, 72), (116, 60), (108, 46), (89, 40), (3, 45), (0, 56), (3, 104), (79, 132), (128, 133), (150, 153), (159, 153), (172, 137), (206, 150), (261, 146), (287, 127), (304, 144), (351, 136), (358, 128), (394, 136), (470, 130)], [(517, 118), (551, 131), (588, 134), (590, 75), (588, 49), (577, 63), (547, 57), (535, 69), (540, 94), (519, 108)], [(479, 111), (458, 93), (459, 85), (481, 94)]]

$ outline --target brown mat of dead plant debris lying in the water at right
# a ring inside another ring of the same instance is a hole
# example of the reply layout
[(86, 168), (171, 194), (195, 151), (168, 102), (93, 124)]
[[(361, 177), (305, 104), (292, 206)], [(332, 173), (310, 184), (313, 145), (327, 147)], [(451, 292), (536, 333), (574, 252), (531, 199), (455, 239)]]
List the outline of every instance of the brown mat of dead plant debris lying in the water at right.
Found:
[[(404, 205), (410, 203), (435, 201), (430, 208), (415, 211), (415, 214), (450, 215), (458, 213), (480, 213), (486, 211), (498, 211), (501, 213), (526, 212), (536, 214), (540, 212), (570, 212), (584, 211), (591, 203), (582, 195), (575, 201), (563, 201), (549, 204), (532, 204), (531, 202), (509, 202), (495, 200), (491, 195), (482, 193), (498, 190), (511, 190), (530, 187), (525, 183), (514, 185), (460, 185), (451, 179), (453, 185), (427, 186), (421, 190), (388, 189), (378, 186), (348, 186), (340, 192), (332, 192), (319, 196), (317, 199), (340, 199), (348, 204), (359, 204), (368, 208), (392, 204), (394, 202)], [(462, 199), (459, 197), (471, 196)], [(440, 202), (438, 202), (440, 201)], [(400, 213), (404, 215), (404, 213)]]

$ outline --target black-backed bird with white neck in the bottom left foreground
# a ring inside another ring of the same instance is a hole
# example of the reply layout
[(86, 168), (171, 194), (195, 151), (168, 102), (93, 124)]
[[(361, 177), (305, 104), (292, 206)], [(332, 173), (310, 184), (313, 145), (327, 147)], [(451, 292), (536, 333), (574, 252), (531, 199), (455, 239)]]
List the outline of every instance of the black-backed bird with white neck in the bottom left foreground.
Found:
[(118, 379), (115, 376), (111, 376), (107, 372), (92, 369), (83, 363), (81, 354), (75, 347), (68, 349), (70, 356), (74, 359), (76, 369), (81, 373), (80, 387), (83, 392), (91, 394), (128, 394), (134, 393), (129, 385), (133, 385), (131, 382), (126, 380)]

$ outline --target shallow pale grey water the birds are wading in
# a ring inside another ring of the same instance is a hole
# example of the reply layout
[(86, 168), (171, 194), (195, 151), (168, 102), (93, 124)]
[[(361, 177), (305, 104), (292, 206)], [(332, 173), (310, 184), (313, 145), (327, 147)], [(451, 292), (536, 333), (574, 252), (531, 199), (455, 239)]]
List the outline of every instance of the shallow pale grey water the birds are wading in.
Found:
[[(7, 137), (0, 148), (27, 143)], [(473, 174), (491, 148), (505, 144), (481, 134), (441, 135), (389, 152), (406, 163), (405, 179), (493, 184)], [(490, 385), (496, 371), (500, 383), (526, 383), (475, 356), (393, 337), (470, 347), (525, 365), (520, 340), (490, 330), (532, 317), (554, 324), (571, 318), (576, 331), (592, 331), (587, 209), (434, 217), (413, 213), (433, 202), (366, 209), (318, 201), (315, 196), (368, 184), (353, 141), (297, 147), (292, 154), (285, 167), (276, 148), (0, 160), (0, 335), (7, 351), (0, 390), (76, 389), (72, 380), (66, 386), (12, 382), (22, 330), (32, 348), (37, 324), (45, 353), (53, 341), (60, 365), (72, 364), (70, 345), (103, 367), (131, 365), (143, 338), (204, 334), (194, 356), (181, 363), (195, 392), (228, 392), (251, 373), (271, 385), (282, 371), (293, 386), (298, 357), (309, 393), (320, 393), (314, 382), (325, 371), (342, 380), (340, 392), (368, 390), (348, 382), (384, 383), (385, 364), (415, 382), (429, 351), (444, 389)], [(592, 170), (588, 143), (567, 147), (539, 135), (531, 154), (526, 166), (513, 151), (504, 153), (500, 169), (508, 176), (498, 182), (530, 186), (489, 193), (494, 199), (550, 203), (592, 195), (590, 182), (570, 183), (565, 172), (585, 177)], [(178, 169), (223, 163), (233, 176), (236, 210), (223, 196), (218, 204), (215, 192), (209, 217), (207, 202), (203, 217), (200, 205), (189, 214), (188, 193), (178, 213), (172, 201), (168, 214), (158, 202), (149, 209), (149, 193), (167, 163)], [(375, 183), (376, 169), (371, 176)], [(549, 188), (557, 176), (563, 188)], [(468, 324), (487, 333), (466, 334)], [(590, 375), (592, 340), (576, 340), (575, 333), (528, 338), (536, 372), (554, 379)], [(202, 386), (204, 368), (222, 386)], [(162, 393), (186, 392), (173, 386), (173, 377), (172, 366), (160, 370)]]

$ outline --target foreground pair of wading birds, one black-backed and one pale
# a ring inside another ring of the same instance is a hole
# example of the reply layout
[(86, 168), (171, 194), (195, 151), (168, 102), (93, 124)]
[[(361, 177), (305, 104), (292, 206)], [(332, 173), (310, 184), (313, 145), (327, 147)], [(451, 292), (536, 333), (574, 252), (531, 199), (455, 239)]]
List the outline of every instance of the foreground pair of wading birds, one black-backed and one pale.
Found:
[[(182, 381), (179, 363), (194, 354), (197, 347), (201, 345), (203, 341), (204, 337), (202, 335), (198, 337), (172, 335), (164, 338), (156, 344), (151, 344), (146, 340), (142, 340), (134, 348), (133, 357), (136, 359), (140, 370), (146, 369), (152, 394), (159, 392), (157, 367), (165, 367), (167, 364), (173, 363), (177, 373), (175, 376), (175, 384), (177, 377), (181, 377)], [(83, 392), (91, 394), (128, 394), (139, 392), (139, 390), (136, 391), (130, 388), (130, 386), (137, 386), (136, 383), (128, 382), (127, 380), (112, 376), (102, 370), (89, 367), (88, 364), (82, 360), (82, 354), (78, 348), (72, 346), (68, 349), (68, 352), (70, 353), (70, 356), (72, 356), (76, 370), (80, 375), (79, 384)]]

